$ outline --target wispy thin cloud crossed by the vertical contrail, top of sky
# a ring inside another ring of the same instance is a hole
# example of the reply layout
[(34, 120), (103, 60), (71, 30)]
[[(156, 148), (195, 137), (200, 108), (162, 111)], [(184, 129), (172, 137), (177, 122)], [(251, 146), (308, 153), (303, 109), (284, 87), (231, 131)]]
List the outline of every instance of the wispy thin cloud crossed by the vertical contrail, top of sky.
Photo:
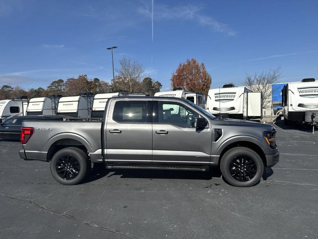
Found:
[[(154, 18), (161, 19), (190, 19), (194, 20), (202, 26), (209, 27), (214, 32), (226, 33), (229, 36), (235, 36), (237, 33), (227, 24), (218, 22), (214, 18), (205, 15), (202, 7), (197, 5), (184, 5), (169, 7), (167, 5), (156, 5), (153, 13)], [(149, 5), (144, 5), (138, 9), (142, 15), (152, 17), (152, 11)]]

